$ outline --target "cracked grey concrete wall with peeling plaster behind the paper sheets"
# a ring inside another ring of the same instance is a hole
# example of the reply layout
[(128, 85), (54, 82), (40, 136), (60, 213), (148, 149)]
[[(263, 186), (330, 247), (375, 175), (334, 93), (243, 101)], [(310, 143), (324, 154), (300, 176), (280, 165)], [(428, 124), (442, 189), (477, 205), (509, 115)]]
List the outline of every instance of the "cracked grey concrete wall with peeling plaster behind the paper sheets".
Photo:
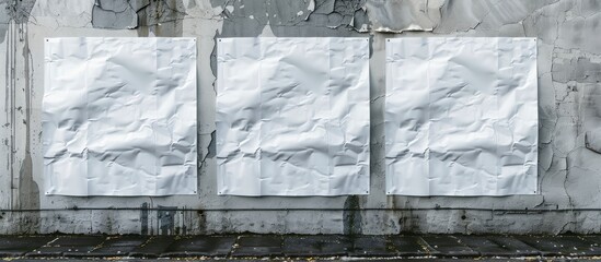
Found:
[[(8, 0), (0, 3), (0, 234), (601, 233), (601, 2), (596, 0)], [(187, 36), (198, 44), (197, 195), (41, 194), (43, 39)], [(215, 46), (232, 36), (371, 38), (371, 194), (217, 196)], [(539, 195), (384, 194), (384, 41), (539, 38)]]

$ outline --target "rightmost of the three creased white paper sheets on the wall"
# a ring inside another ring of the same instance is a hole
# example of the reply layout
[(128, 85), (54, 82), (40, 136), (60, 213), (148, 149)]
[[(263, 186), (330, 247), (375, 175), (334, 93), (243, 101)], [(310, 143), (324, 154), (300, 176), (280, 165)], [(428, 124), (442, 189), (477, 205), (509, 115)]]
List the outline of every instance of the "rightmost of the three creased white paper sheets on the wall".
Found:
[(536, 40), (386, 40), (388, 194), (536, 193)]

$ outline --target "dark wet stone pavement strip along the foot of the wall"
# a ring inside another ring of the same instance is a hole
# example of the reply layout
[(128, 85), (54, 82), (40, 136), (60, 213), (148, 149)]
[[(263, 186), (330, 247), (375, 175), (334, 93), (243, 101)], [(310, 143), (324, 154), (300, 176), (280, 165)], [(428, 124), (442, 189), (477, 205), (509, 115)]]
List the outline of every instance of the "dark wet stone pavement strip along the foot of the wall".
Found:
[(601, 259), (601, 235), (0, 236), (0, 260)]

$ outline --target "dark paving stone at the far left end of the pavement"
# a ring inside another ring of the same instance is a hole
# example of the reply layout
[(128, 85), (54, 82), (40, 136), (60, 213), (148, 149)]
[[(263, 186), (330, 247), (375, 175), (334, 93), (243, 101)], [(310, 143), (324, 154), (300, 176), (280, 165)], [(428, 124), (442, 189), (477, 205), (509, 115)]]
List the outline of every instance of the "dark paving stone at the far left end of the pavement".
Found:
[(54, 239), (53, 236), (0, 236), (0, 258), (21, 257)]

